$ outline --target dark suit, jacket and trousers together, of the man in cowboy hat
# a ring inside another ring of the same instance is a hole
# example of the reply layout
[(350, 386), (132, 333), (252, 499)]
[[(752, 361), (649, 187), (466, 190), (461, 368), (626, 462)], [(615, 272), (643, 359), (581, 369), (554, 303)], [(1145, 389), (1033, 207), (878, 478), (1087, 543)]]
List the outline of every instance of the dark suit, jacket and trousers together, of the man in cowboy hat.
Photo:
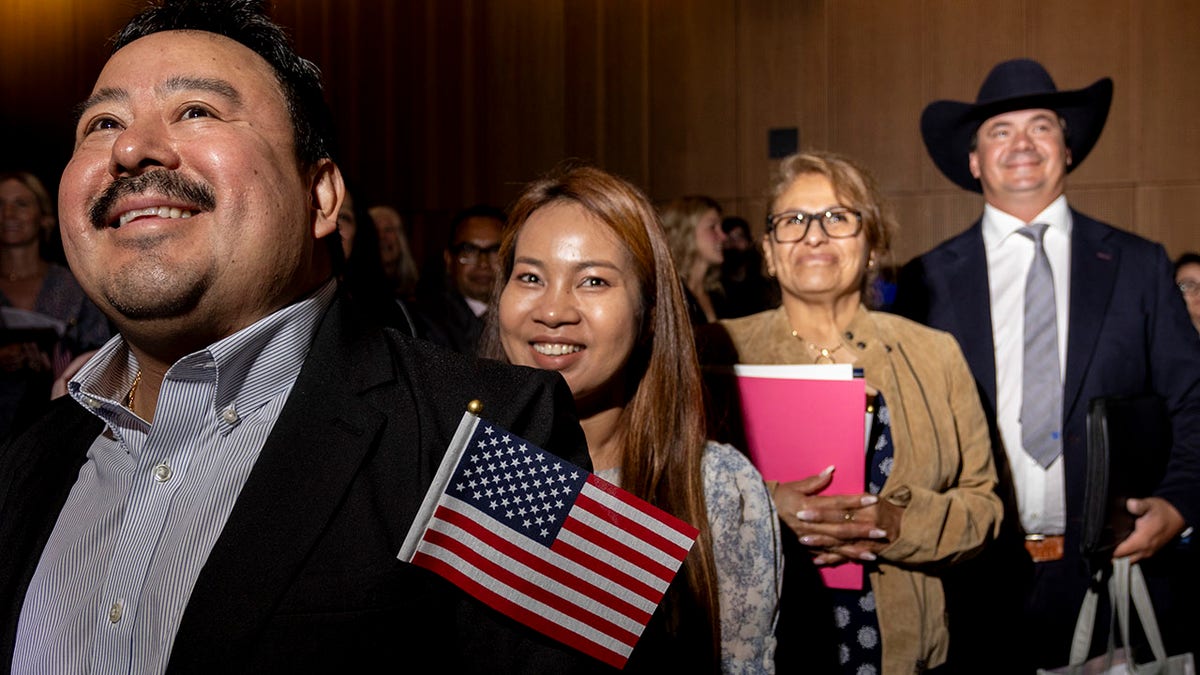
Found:
[[(1072, 210), (1070, 307), (1063, 381), (1064, 558), (1034, 567), (1021, 540), (1008, 460), (996, 425), (996, 360), (982, 220), (901, 270), (893, 311), (953, 334), (974, 374), (990, 425), (1004, 526), (996, 544), (943, 577), (950, 662), (962, 671), (1032, 673), (1066, 663), (1090, 569), (1080, 551), (1092, 399), (1157, 393), (1174, 447), (1154, 494), (1200, 522), (1200, 338), (1158, 244)], [(1169, 544), (1142, 565), (1168, 649), (1196, 649), (1194, 555)], [(1036, 621), (1031, 621), (1036, 617)], [(1093, 650), (1104, 647), (1096, 632)], [(1030, 640), (1033, 640), (1032, 643)], [(1020, 644), (1027, 649), (996, 650)], [(991, 669), (978, 653), (992, 655)], [(1171, 653), (1175, 653), (1174, 651)], [(967, 665), (970, 664), (970, 665)]]

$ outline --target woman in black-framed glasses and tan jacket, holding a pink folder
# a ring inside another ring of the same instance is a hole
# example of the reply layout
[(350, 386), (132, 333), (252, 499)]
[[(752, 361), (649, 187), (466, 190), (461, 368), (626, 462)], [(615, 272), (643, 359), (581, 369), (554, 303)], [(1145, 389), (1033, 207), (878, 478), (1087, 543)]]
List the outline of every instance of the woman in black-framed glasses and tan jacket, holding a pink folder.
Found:
[[(762, 246), (782, 305), (712, 327), (704, 359), (853, 364), (864, 372), (869, 420), (860, 494), (824, 494), (828, 471), (775, 486), (780, 518), (797, 537), (785, 567), (779, 671), (820, 663), (815, 650), (826, 645), (815, 638), (811, 617), (821, 614), (835, 635), (829, 661), (838, 665), (830, 668), (935, 668), (946, 661), (950, 635), (932, 571), (977, 552), (1000, 530), (1001, 500), (974, 381), (953, 338), (866, 309), (892, 231), (866, 172), (828, 153), (793, 155), (780, 163), (769, 208)], [(811, 571), (809, 560), (863, 563), (863, 591), (802, 589), (797, 598), (794, 574)], [(816, 608), (818, 598), (832, 607)], [(796, 613), (810, 621), (803, 631), (794, 628)]]

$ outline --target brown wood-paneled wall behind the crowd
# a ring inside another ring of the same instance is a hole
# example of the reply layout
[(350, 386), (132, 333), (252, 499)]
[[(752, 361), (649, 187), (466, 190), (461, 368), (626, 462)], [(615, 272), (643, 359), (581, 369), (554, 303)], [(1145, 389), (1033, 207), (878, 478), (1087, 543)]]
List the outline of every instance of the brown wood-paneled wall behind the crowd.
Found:
[[(131, 0), (0, 2), (0, 167), (52, 186)], [(449, 215), (506, 205), (566, 157), (654, 199), (700, 192), (761, 227), (768, 131), (847, 153), (901, 223), (901, 263), (961, 231), (979, 197), (918, 132), (935, 98), (973, 100), (997, 61), (1060, 88), (1109, 76), (1112, 112), (1072, 203), (1200, 247), (1200, 2), (1192, 0), (276, 0), (324, 71), (343, 168), (439, 255)]]

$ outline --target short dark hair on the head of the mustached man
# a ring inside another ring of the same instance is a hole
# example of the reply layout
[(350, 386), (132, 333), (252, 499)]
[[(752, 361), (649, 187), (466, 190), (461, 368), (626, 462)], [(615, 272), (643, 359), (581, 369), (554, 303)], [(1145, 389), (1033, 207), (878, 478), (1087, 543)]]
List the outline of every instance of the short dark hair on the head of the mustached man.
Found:
[(301, 58), (271, 20), (266, 0), (156, 0), (113, 36), (113, 53), (134, 40), (168, 30), (200, 30), (241, 43), (275, 71), (304, 167), (334, 156), (334, 124), (320, 85), (320, 70)]

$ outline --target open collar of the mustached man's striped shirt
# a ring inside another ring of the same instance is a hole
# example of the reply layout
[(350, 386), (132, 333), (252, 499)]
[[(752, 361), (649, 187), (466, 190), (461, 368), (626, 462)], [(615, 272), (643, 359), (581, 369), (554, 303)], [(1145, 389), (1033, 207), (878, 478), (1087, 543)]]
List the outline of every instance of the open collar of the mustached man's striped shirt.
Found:
[[(295, 382), (317, 325), (332, 303), (337, 283), (328, 281), (308, 297), (187, 354), (167, 378), (215, 377), (215, 410), (236, 404), (250, 411)], [(118, 334), (67, 383), (70, 395), (97, 417), (112, 420), (137, 377), (137, 358)]]

